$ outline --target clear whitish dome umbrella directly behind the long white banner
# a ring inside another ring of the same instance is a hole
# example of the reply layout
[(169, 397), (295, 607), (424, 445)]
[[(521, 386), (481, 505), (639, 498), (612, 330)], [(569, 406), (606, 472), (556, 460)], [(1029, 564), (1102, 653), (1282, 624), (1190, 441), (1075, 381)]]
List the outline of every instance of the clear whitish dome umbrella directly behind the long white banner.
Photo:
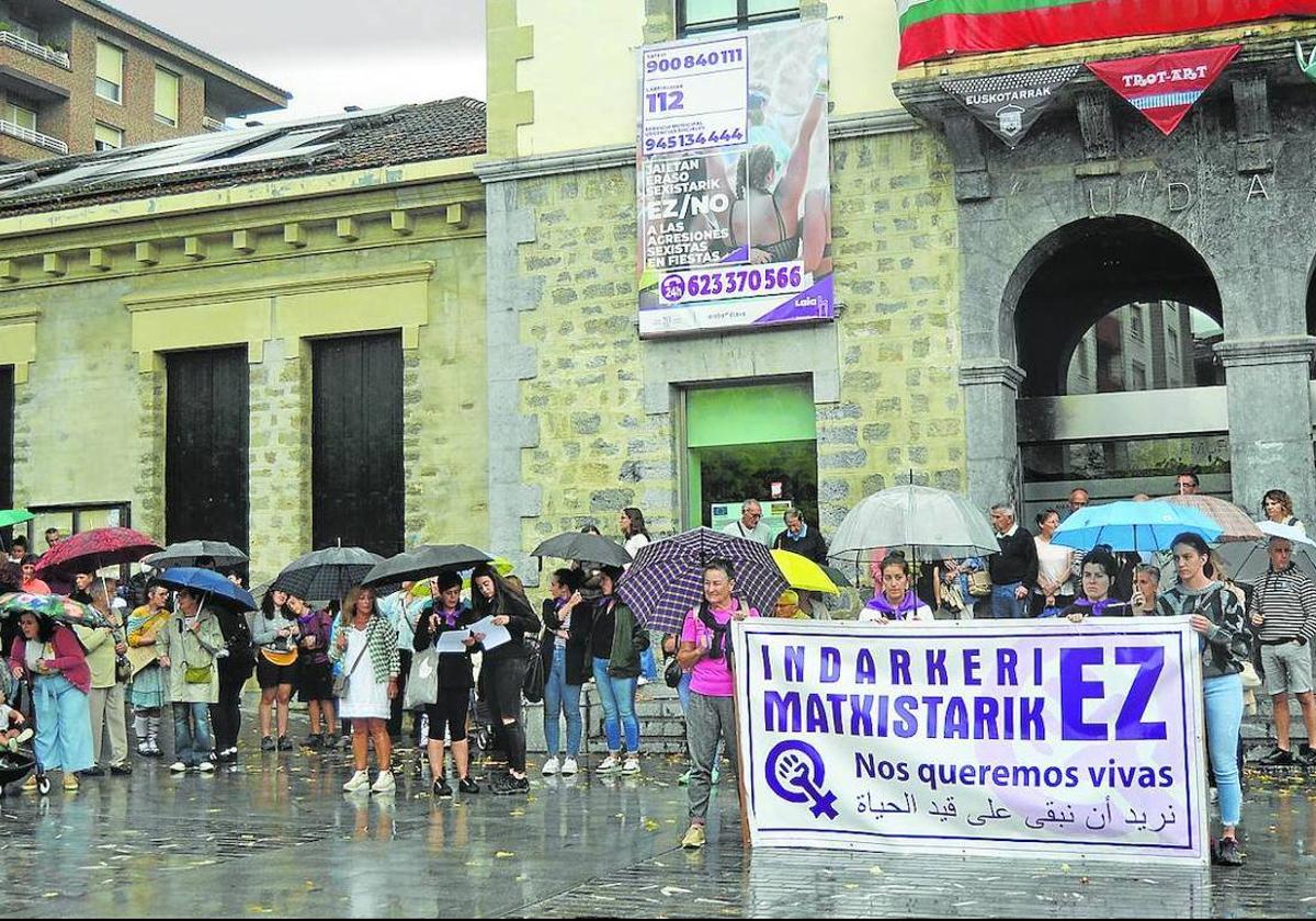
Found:
[(890, 547), (909, 547), (926, 559), (1000, 551), (982, 509), (925, 485), (894, 485), (861, 500), (837, 528), (828, 555), (858, 567), (870, 550)]

